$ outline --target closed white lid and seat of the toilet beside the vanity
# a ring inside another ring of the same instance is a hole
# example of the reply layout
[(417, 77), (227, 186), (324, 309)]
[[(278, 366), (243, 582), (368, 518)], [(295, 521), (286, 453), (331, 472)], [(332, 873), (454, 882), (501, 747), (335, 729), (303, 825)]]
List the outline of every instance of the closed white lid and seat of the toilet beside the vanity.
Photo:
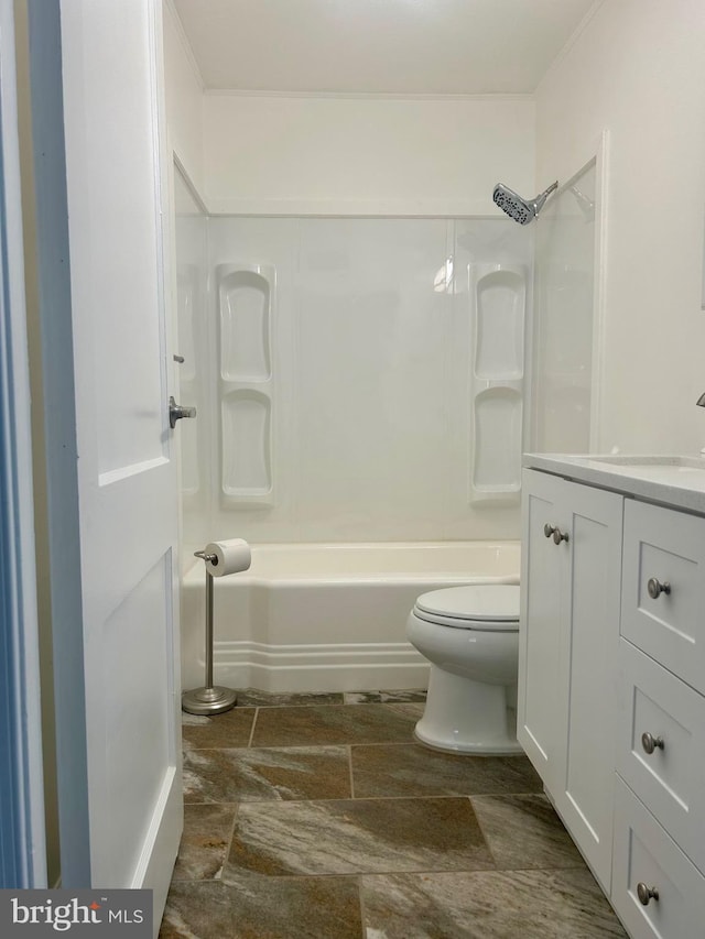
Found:
[(431, 623), (466, 630), (518, 630), (519, 586), (487, 583), (422, 593), (414, 613)]

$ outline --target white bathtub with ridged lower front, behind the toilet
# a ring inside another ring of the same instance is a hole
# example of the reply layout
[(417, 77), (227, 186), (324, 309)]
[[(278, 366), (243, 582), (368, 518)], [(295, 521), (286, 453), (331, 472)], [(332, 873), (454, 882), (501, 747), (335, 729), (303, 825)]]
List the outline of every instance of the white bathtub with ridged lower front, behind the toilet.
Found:
[[(204, 684), (205, 571), (182, 582), (182, 681)], [(425, 688), (406, 642), (427, 590), (518, 583), (519, 542), (269, 544), (243, 574), (214, 583), (216, 684), (265, 691)]]

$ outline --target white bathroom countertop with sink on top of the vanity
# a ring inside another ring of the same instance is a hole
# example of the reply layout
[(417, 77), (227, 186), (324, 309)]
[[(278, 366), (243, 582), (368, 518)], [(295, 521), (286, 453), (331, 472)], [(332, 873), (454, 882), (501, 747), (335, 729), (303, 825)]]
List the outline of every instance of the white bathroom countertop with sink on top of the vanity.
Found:
[(705, 457), (524, 454), (523, 466), (705, 515)]

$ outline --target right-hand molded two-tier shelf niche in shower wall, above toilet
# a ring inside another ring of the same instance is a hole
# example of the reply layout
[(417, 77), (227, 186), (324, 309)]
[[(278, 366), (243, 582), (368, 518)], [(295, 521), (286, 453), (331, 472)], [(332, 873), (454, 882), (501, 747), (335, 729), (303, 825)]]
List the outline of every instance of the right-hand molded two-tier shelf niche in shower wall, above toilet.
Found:
[(527, 269), (470, 264), (470, 502), (516, 501), (521, 489)]

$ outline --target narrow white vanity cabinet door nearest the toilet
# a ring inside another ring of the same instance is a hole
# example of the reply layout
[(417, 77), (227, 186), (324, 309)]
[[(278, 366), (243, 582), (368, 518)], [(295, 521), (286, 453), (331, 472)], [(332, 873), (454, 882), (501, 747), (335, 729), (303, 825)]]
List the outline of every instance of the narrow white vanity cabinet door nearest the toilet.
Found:
[(517, 736), (549, 791), (560, 779), (561, 556), (545, 525), (560, 525), (564, 480), (535, 470), (522, 479), (521, 626)]

